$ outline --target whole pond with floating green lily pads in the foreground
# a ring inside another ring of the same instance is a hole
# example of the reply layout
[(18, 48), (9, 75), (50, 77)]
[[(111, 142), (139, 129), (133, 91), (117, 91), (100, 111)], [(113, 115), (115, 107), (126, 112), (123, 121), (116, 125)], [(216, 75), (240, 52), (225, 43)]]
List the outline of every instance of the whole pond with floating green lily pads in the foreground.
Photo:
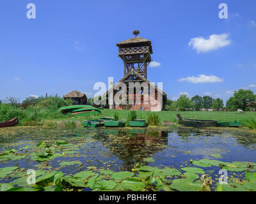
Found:
[[(211, 191), (256, 190), (256, 136), (236, 129), (16, 127), (0, 129), (0, 153), (0, 183), (13, 190), (56, 190), (51, 176), (60, 171), (67, 191), (197, 191), (207, 187), (202, 175)], [(228, 184), (219, 184), (221, 169)], [(36, 170), (34, 186), (28, 170)]]

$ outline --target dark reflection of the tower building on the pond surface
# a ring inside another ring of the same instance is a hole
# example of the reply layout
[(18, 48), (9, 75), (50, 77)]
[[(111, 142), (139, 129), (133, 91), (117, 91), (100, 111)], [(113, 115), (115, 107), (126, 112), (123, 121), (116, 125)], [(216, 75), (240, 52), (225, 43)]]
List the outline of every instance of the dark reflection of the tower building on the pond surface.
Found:
[(116, 131), (113, 135), (109, 135), (109, 131), (104, 131), (103, 135), (97, 135), (95, 138), (104, 143), (111, 154), (123, 161), (120, 170), (131, 170), (134, 164), (143, 163), (144, 158), (154, 156), (168, 145), (166, 131), (132, 129), (118, 133)]

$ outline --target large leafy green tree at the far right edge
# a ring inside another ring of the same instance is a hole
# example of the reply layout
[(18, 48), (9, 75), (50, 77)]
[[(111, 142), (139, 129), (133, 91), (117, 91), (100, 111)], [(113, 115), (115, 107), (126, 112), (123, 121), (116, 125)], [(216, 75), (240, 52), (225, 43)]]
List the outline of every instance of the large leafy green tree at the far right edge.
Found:
[(251, 90), (239, 89), (234, 96), (227, 100), (226, 107), (231, 110), (246, 110), (246, 105), (256, 100), (256, 95)]

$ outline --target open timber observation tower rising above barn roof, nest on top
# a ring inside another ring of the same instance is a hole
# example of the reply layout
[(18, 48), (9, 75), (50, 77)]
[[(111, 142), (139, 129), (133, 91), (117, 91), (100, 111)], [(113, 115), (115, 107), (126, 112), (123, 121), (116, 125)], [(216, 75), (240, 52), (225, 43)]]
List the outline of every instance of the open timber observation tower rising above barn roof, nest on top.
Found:
[[(135, 38), (117, 43), (118, 56), (124, 61), (124, 77), (129, 75), (124, 82), (143, 82), (137, 75), (131, 74), (136, 71), (142, 77), (147, 78), (147, 66), (152, 61), (153, 54), (151, 41), (140, 38), (140, 31), (133, 31)], [(130, 75), (131, 74), (131, 75)]]

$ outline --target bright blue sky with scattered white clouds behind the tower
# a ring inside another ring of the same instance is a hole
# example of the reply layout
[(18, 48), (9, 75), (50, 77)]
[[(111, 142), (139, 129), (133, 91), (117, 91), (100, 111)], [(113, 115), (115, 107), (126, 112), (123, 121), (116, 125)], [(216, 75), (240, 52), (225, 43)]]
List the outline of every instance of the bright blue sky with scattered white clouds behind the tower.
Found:
[[(135, 29), (152, 41), (148, 80), (163, 82), (169, 99), (256, 92), (256, 1), (205, 2), (1, 0), (0, 99), (73, 90), (92, 97), (95, 82), (123, 77), (116, 43)], [(26, 17), (28, 3), (35, 19)], [(220, 3), (228, 19), (219, 18)]]

